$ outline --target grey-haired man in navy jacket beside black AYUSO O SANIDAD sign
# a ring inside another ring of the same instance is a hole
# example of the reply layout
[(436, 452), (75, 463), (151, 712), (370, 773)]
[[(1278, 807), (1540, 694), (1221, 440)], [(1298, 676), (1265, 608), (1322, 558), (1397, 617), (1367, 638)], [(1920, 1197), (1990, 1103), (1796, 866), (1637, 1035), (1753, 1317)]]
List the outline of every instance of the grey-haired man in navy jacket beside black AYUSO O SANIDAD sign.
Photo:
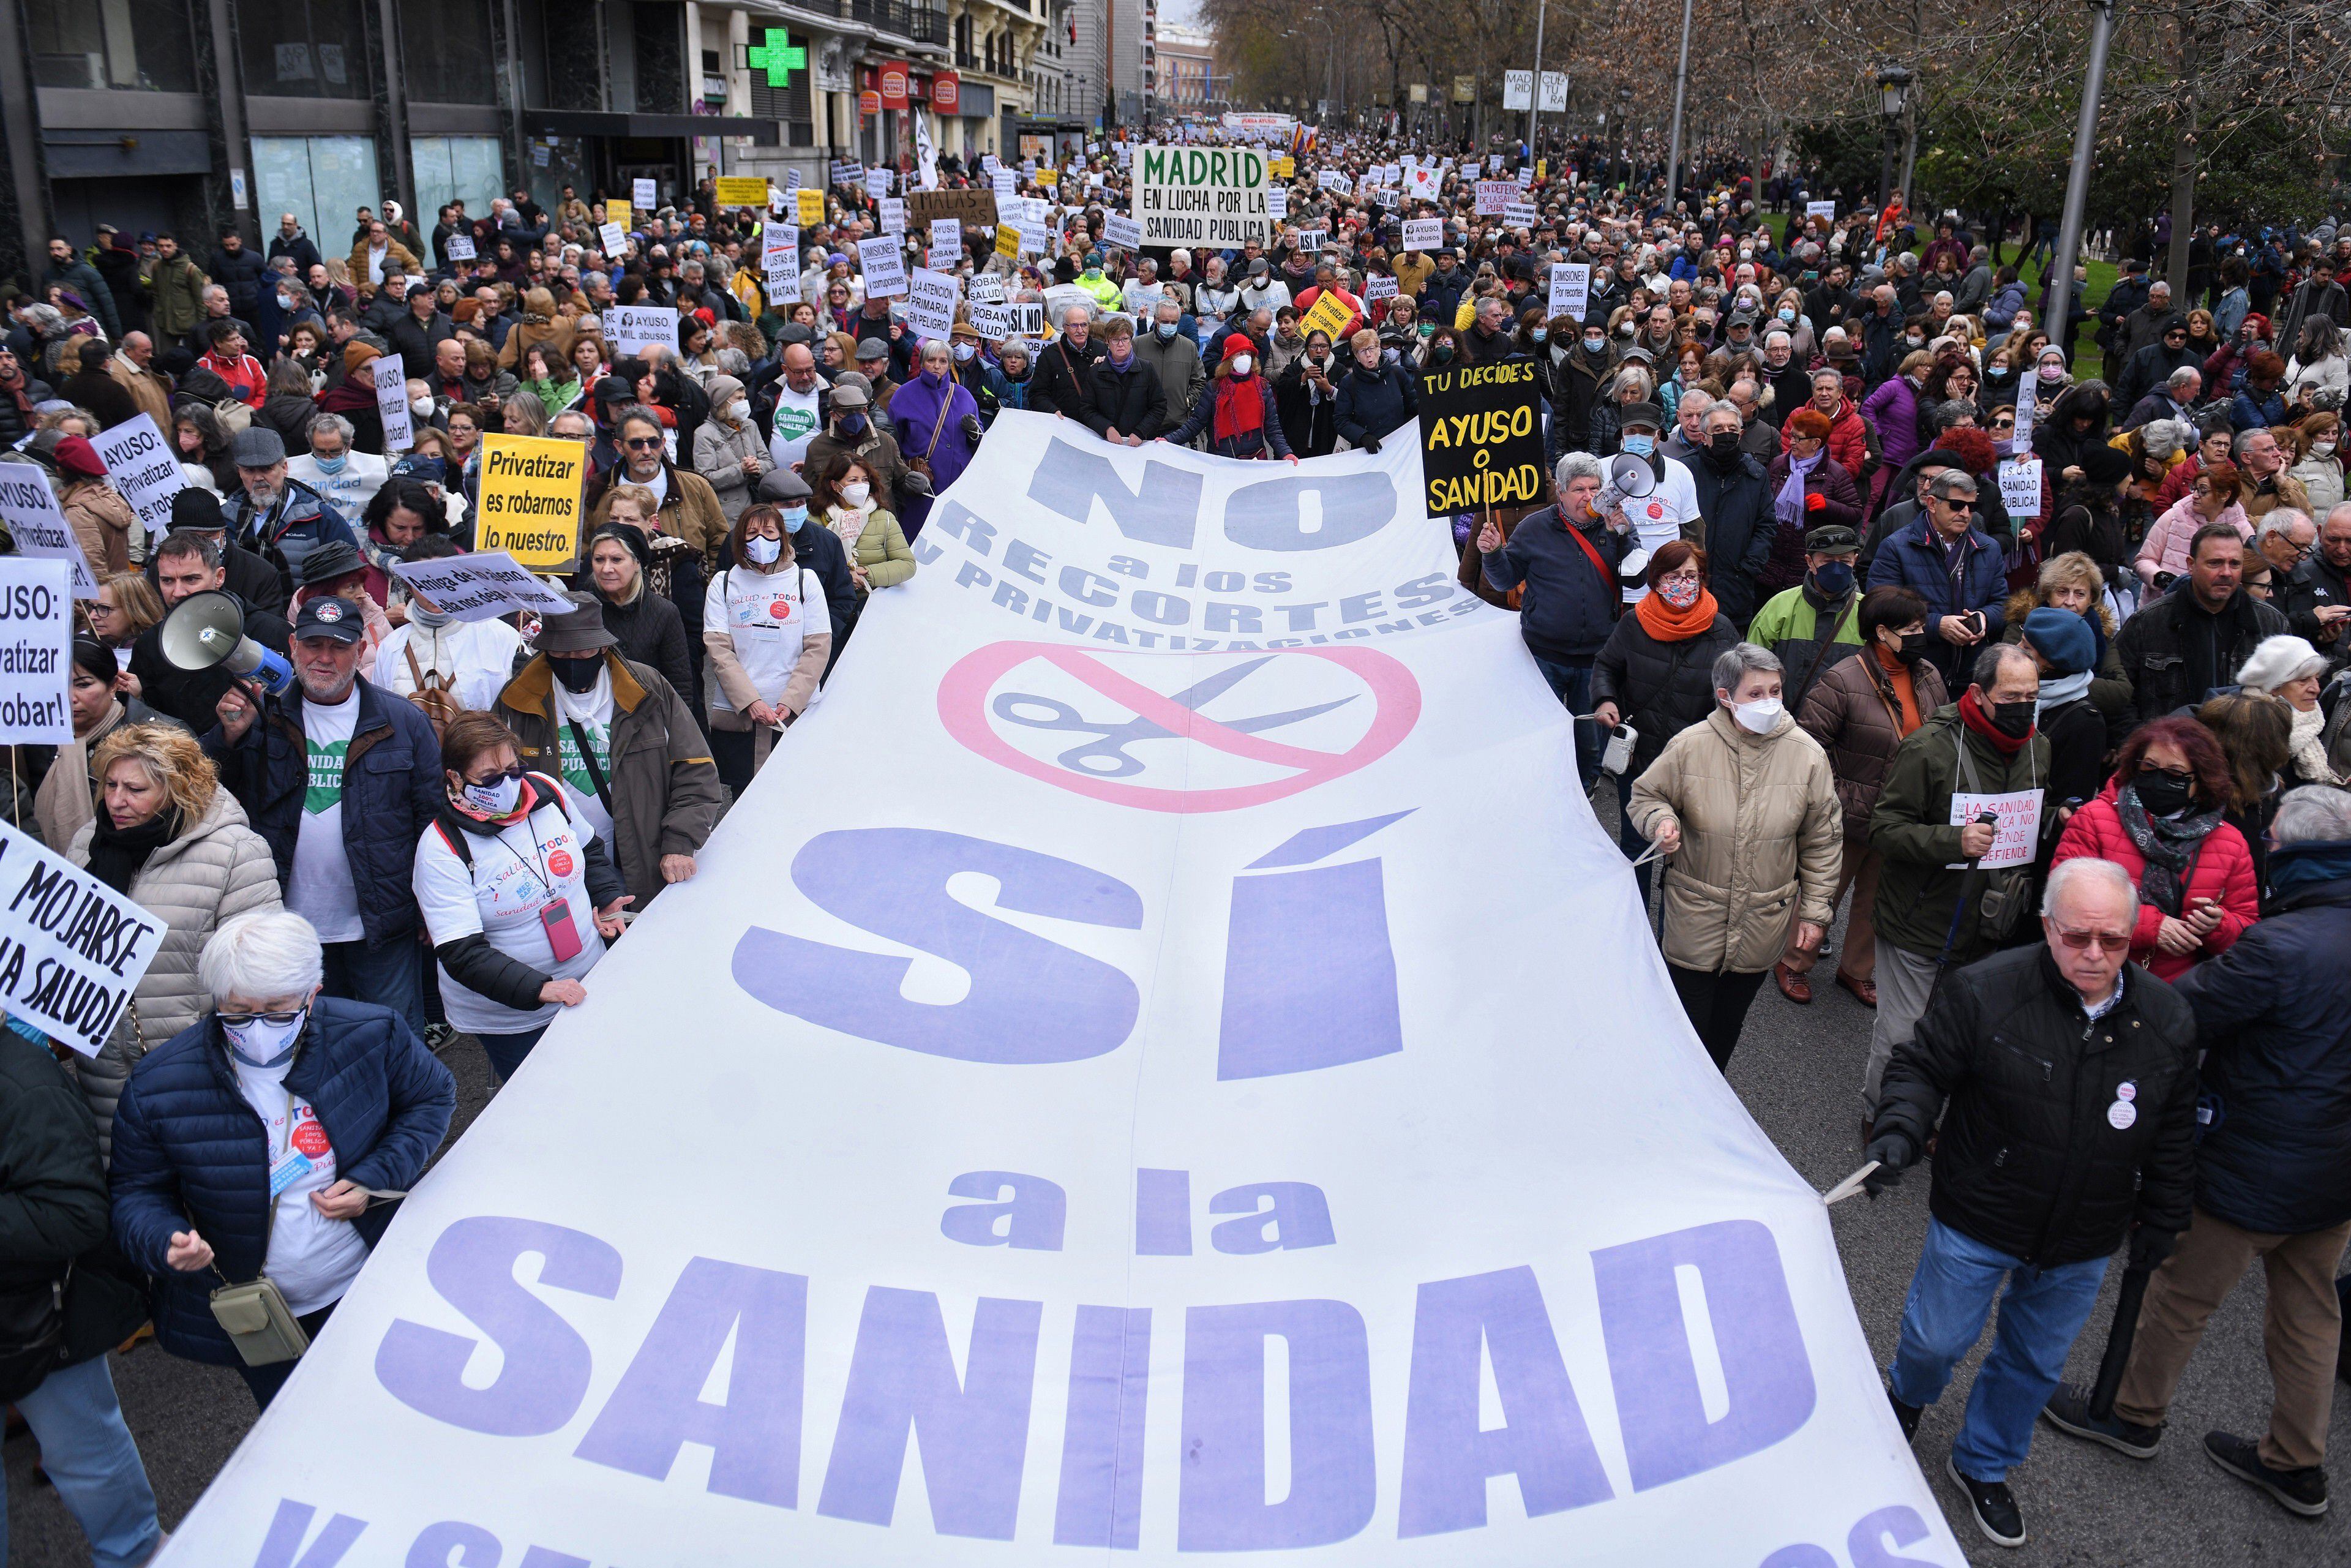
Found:
[[(1625, 607), (1617, 562), (1629, 529), (1592, 510), (1603, 484), (1599, 458), (1570, 451), (1559, 458), (1556, 480), (1559, 505), (1521, 517), (1507, 543), (1502, 524), (1488, 517), (1476, 548), (1488, 583), (1502, 592), (1526, 588), (1519, 597), (1526, 651), (1566, 710), (1582, 715), (1592, 710), (1592, 661)], [(1599, 729), (1587, 717), (1575, 719), (1575, 773), (1587, 795), (1601, 776)]]

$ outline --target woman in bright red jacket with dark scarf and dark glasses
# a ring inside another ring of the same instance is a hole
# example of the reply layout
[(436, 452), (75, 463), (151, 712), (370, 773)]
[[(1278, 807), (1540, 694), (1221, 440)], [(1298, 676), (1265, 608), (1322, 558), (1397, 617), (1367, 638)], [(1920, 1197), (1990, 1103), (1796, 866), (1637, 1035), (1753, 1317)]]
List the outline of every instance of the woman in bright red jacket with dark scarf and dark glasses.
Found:
[(2154, 719), (2132, 731), (2114, 778), (2074, 813), (2057, 839), (2074, 856), (2114, 860), (2139, 886), (2130, 957), (2158, 980), (2226, 952), (2259, 919), (2245, 837), (2222, 820), (2229, 762), (2196, 719)]

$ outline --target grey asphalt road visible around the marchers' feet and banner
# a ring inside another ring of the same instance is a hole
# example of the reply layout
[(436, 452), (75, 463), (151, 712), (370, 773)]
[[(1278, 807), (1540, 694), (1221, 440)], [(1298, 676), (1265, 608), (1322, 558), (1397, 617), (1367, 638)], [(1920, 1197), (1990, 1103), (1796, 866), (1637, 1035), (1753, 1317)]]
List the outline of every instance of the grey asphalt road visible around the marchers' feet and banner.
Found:
[[(1608, 811), (1613, 816), (1613, 806)], [(1841, 936), (1841, 931), (1838, 931)], [(1869, 1053), (1869, 1013), (1846, 992), (1822, 987), (1810, 1006), (1791, 1006), (1766, 985), (1730, 1084), (1780, 1150), (1815, 1187), (1829, 1187), (1860, 1164), (1860, 1074)], [(489, 1067), (473, 1041), (449, 1051), (458, 1077), (458, 1128), (489, 1095)], [(1925, 1234), (1923, 1173), (1869, 1204), (1853, 1199), (1834, 1213), (1836, 1244), (1853, 1284), (1869, 1347), (1883, 1366), (1893, 1356), (1902, 1295)], [(2118, 1269), (2109, 1274), (2092, 1328), (2074, 1349), (2071, 1375), (2090, 1378), (2114, 1312)], [(2031, 1460), (2012, 1476), (2031, 1540), (2003, 1552), (1975, 1533), (1965, 1500), (1942, 1472), (1958, 1429), (1972, 1356), (1954, 1394), (1928, 1410), (1918, 1429), (1918, 1462), (1942, 1497), (1951, 1528), (1977, 1566), (2003, 1568), (2210, 1568), (2351, 1563), (2351, 1523), (2344, 1512), (2304, 1523), (2222, 1474), (2203, 1455), (2208, 1429), (2259, 1434), (2269, 1418), (2269, 1373), (2262, 1363), (2259, 1274), (2212, 1319), (2189, 1363), (2172, 1408), (2175, 1432), (2151, 1462), (2064, 1439), (2048, 1427), (2034, 1439)], [(115, 1361), (122, 1408), (146, 1455), (165, 1526), (179, 1521), (252, 1425), (252, 1399), (226, 1368), (174, 1361), (153, 1345)], [(2335, 1406), (2335, 1453), (2351, 1450), (2351, 1399)], [(33, 1486), (33, 1443), (7, 1443), (9, 1568), (85, 1568), (89, 1552), (59, 1507), (56, 1493)], [(1756, 1559), (1766, 1554), (1759, 1542)], [(1740, 1566), (1721, 1566), (1740, 1568)]]

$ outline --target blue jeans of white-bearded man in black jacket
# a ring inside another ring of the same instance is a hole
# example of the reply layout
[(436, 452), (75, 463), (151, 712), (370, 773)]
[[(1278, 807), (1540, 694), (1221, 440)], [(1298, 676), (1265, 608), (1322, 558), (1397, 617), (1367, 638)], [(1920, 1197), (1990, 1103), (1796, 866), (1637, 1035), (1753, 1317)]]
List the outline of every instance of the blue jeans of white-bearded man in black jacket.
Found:
[(2001, 1298), (2001, 1324), (1991, 1354), (1968, 1392), (1968, 1418), (1951, 1443), (1951, 1465), (1970, 1481), (2005, 1481), (2024, 1462), (2034, 1441), (2034, 1418), (2057, 1392), (2064, 1356), (2074, 1349), (2083, 1319), (2106, 1279), (2106, 1260), (2088, 1258), (2055, 1269), (2034, 1269), (1970, 1241), (1942, 1220), (1928, 1220), (1925, 1248), (1902, 1302), (1902, 1342), (1888, 1368), (1895, 1399), (1930, 1406), (1951, 1382), (1951, 1368), (1984, 1335), (1991, 1298)]

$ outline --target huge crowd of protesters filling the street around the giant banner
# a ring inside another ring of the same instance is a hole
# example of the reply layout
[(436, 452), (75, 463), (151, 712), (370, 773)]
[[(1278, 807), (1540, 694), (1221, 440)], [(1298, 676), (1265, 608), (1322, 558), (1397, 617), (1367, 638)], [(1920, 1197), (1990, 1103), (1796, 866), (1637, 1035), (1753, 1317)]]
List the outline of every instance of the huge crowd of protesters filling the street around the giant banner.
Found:
[[(609, 254), (604, 202), (564, 186), (423, 230), (383, 202), (324, 242), (284, 214), (259, 254), (101, 226), (0, 292), (0, 442), (101, 578), (75, 743), (19, 748), (12, 820), (169, 926), (94, 1060), (0, 1034), (0, 1305), (85, 1281), (33, 1345), (0, 1331), (0, 1399), (96, 1561), (158, 1540), (103, 1352), (150, 1321), (268, 1403), (444, 1138), (437, 1056), (473, 1037), (520, 1072), (696, 875), (1004, 409), (1298, 463), (1415, 440), (1422, 376), (1505, 360), (1535, 367), (1554, 501), (1432, 527), (1575, 715), (1578, 783), (1608, 780), (1716, 1065), (1766, 983), (1815, 1001), (1846, 907), (1829, 973), (1874, 1011), (1871, 1192), (1935, 1157), (1904, 1434), (2005, 1284), (1949, 1469), (2020, 1544), (2034, 1420), (2156, 1455), (2262, 1258), (2271, 1429), (2205, 1448), (2323, 1512), (2351, 1237), (2351, 235), (2212, 228), (2184, 299), (2125, 256), (2043, 322), (2003, 235), (1900, 202), (1796, 216), (1789, 174), (1759, 202), (1702, 167), (1662, 200), (1589, 143), (1300, 134), (1270, 240), (1126, 252), (1128, 153), (900, 172), (994, 186), (1046, 235), (1006, 256), (966, 223), (945, 336), (868, 292), (889, 209), (863, 172), (776, 270), (797, 193), (722, 209), (705, 183)], [(1481, 214), (1481, 174), (1533, 221)], [(1413, 219), (1441, 242), (1408, 249)], [(1575, 315), (1559, 263), (1589, 268)], [(1326, 299), (1345, 320), (1307, 329)], [(623, 348), (625, 306), (675, 310), (675, 341)], [(153, 534), (92, 447), (139, 416), (186, 480)], [(473, 548), (494, 435), (588, 449), (567, 614), (456, 621), (393, 574)], [(165, 654), (200, 592), (292, 661), (287, 696)], [(2125, 1244), (2146, 1326), (2095, 1408), (2059, 1375)], [(212, 1305), (254, 1281), (277, 1295), (259, 1359)]]

